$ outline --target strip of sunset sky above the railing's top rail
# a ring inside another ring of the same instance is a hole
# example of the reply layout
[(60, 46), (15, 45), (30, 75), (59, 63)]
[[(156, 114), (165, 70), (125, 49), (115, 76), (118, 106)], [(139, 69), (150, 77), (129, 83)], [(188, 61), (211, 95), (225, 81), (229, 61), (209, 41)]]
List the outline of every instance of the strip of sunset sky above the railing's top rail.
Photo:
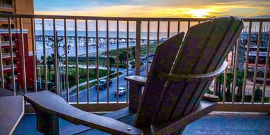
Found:
[(34, 0), (35, 14), (107, 17), (270, 17), (270, 0)]

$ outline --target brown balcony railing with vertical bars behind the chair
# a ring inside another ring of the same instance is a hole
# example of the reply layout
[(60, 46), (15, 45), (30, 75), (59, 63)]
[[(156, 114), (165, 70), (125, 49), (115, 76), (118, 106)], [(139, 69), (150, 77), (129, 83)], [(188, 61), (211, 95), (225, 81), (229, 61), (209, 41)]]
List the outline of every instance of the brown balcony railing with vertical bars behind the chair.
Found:
[[(9, 26), (11, 18), (19, 19), (21, 33), (24, 29), (22, 24), (30, 22), (31, 29), (27, 36), (33, 38), (29, 45), (36, 47), (33, 54), (37, 53), (29, 66), (36, 71), (31, 73), (33, 84), (26, 84), (25, 67), (28, 63), (23, 51), (24, 42), (21, 42), (19, 50), (22, 51), (22, 67), (17, 67), (22, 68), (25, 93), (53, 90), (70, 104), (86, 111), (89, 108), (90, 111), (113, 111), (127, 106), (129, 84), (122, 78), (132, 74), (147, 77), (156, 45), (190, 26), (211, 19), (8, 14), (0, 17), (7, 18)], [(22, 22), (23, 18), (29, 19), (29, 22)], [(214, 79), (207, 93), (221, 97), (216, 111), (270, 112), (270, 27), (267, 25), (270, 19), (242, 20), (242, 33), (247, 35), (239, 35), (227, 58), (230, 65), (221, 77)], [(254, 34), (258, 37), (255, 56), (249, 56), (246, 54), (250, 54), (253, 47), (251, 35)], [(265, 34), (268, 40), (263, 43), (262, 35)], [(12, 33), (9, 35), (11, 37)], [(21, 34), (19, 38), (22, 41), (24, 37)], [(260, 51), (266, 53), (265, 58), (259, 58)], [(11, 68), (14, 74), (13, 63)], [(0, 70), (3, 73), (2, 67)], [(113, 82), (111, 87), (109, 83), (100, 87), (100, 82), (109, 82), (110, 79)], [(1, 86), (4, 87), (4, 84)], [(114, 95), (114, 91), (122, 86), (127, 87), (127, 94), (124, 97)]]

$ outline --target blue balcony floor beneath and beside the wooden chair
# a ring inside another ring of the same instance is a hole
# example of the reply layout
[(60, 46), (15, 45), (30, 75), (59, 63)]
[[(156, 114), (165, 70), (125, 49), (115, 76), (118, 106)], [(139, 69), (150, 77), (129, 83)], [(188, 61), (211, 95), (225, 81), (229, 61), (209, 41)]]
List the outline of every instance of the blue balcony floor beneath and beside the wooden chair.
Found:
[[(61, 131), (70, 126), (70, 122), (60, 120)], [(188, 125), (183, 134), (270, 134), (269, 127), (269, 114), (211, 113)], [(35, 129), (35, 115), (25, 115), (15, 134), (40, 134)]]

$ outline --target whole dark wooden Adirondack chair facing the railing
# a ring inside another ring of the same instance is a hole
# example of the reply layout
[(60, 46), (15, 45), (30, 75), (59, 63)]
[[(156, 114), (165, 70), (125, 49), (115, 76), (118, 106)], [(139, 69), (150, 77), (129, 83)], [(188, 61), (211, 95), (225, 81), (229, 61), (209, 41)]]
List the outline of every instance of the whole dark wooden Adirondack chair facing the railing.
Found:
[[(183, 42), (184, 33), (162, 42), (147, 79), (126, 77), (129, 107), (104, 116), (81, 111), (49, 91), (26, 94), (38, 131), (59, 134), (58, 118), (63, 118), (110, 134), (181, 134), (214, 110), (219, 98), (205, 92), (227, 67), (224, 60), (242, 28), (240, 19), (221, 17), (191, 26)], [(98, 132), (93, 129), (86, 133)]]

